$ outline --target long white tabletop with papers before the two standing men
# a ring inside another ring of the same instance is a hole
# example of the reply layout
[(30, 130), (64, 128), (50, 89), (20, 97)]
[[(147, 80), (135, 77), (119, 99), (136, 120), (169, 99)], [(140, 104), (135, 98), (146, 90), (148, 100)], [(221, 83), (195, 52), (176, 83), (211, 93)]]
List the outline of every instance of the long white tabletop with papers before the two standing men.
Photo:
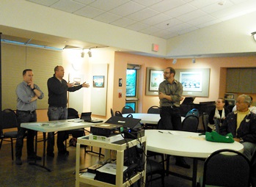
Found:
[[(101, 123), (97, 123), (101, 124)], [(76, 120), (56, 120), (48, 122), (23, 122), (22, 128), (28, 128), (34, 131), (40, 131), (43, 133), (54, 131), (68, 131), (77, 128), (86, 128), (95, 125), (92, 122), (76, 122)]]

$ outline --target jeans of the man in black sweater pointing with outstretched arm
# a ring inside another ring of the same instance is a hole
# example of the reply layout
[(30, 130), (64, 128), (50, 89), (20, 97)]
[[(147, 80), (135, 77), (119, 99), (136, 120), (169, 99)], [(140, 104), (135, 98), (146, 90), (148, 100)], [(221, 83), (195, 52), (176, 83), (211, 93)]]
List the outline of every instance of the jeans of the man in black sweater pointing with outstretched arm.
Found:
[[(67, 120), (67, 107), (55, 107), (48, 108), (48, 120)], [(67, 135), (66, 131), (59, 131), (57, 135), (57, 147), (59, 151), (65, 150), (65, 141)], [(47, 153), (54, 153), (54, 132), (48, 133), (47, 138)]]

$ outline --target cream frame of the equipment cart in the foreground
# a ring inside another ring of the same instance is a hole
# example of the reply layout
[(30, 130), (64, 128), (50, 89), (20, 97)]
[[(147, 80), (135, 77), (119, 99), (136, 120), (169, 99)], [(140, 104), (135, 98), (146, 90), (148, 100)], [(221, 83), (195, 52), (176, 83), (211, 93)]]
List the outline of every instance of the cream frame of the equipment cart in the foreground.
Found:
[[(144, 171), (137, 172), (136, 175), (134, 175), (134, 177), (131, 177), (131, 179), (128, 181), (125, 181), (125, 183), (123, 183), (123, 172), (121, 172), (123, 171), (124, 151), (127, 149), (127, 147), (134, 147), (140, 142), (143, 144), (143, 146), (145, 146), (145, 153), (147, 153), (145, 136), (143, 136), (142, 138), (139, 138), (139, 141), (138, 139), (129, 139), (127, 143), (123, 143), (123, 144), (114, 144), (114, 143), (106, 143), (106, 142), (99, 142), (95, 140), (89, 140), (88, 136), (83, 136), (78, 138), (77, 144), (76, 144), (76, 187), (80, 186), (80, 183), (87, 183), (92, 186), (100, 186), (100, 187), (131, 186), (131, 183), (135, 183), (137, 180), (141, 178), (142, 178), (142, 186), (144, 186), (145, 185), (145, 169), (146, 169), (145, 154), (143, 154), (142, 156), (142, 162), (145, 163)], [(87, 178), (87, 177), (84, 177), (83, 175), (79, 175), (81, 144), (104, 148), (106, 150), (105, 160), (110, 158), (108, 150), (115, 150), (117, 152), (117, 175), (116, 175), (115, 185), (111, 183), (104, 183), (99, 180)]]

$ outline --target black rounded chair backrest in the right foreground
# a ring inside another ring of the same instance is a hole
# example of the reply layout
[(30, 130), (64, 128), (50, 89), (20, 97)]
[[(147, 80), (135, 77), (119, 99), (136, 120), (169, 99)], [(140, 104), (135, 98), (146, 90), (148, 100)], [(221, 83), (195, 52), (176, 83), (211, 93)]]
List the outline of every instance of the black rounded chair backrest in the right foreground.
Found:
[(202, 186), (249, 186), (250, 163), (235, 150), (217, 150), (205, 161)]

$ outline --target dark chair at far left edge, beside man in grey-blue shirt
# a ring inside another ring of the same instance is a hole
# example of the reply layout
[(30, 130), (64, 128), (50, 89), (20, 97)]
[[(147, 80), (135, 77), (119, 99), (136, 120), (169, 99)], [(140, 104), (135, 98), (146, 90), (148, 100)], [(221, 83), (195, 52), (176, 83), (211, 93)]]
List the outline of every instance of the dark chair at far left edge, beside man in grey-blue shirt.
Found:
[[(1, 111), (2, 115), (2, 121), (1, 121), (1, 142), (0, 142), (0, 149), (1, 144), (3, 141), (11, 142), (11, 153), (12, 153), (12, 161), (13, 161), (13, 141), (17, 139), (18, 135), (18, 121), (17, 121), (17, 115), (15, 114), (15, 111), (12, 109), (4, 109)], [(15, 131), (7, 131), (4, 132), (3, 130), (7, 130), (10, 128), (15, 128)], [(10, 140), (9, 140), (10, 139)]]

